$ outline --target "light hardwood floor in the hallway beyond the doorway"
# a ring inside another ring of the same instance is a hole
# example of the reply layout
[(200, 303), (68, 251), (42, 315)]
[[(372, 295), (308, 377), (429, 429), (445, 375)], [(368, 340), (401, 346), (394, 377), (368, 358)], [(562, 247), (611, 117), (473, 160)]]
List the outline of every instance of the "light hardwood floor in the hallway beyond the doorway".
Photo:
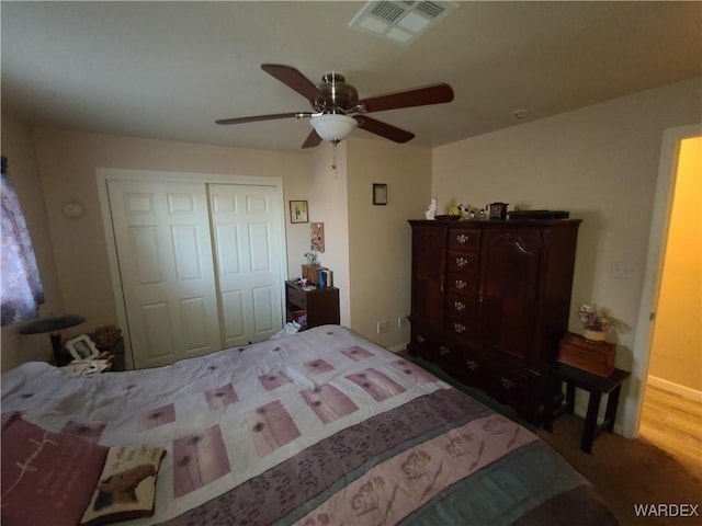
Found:
[(702, 470), (702, 403), (648, 386), (639, 435), (693, 471)]

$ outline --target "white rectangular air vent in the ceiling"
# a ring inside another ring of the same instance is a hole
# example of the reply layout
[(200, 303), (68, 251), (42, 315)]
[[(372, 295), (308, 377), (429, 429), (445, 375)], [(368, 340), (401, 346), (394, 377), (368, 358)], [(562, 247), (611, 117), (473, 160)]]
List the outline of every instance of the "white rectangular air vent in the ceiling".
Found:
[(353, 18), (349, 27), (409, 44), (457, 7), (457, 3), (441, 0), (371, 1)]

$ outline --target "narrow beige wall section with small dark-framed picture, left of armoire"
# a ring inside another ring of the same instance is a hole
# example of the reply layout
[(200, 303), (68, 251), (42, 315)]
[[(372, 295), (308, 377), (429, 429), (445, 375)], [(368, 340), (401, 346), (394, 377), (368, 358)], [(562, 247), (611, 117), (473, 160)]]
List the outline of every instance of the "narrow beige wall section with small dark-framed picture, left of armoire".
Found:
[[(373, 206), (373, 183), (387, 184), (387, 205)], [(349, 266), (352, 328), (389, 348), (405, 348), (409, 324), (411, 231), (429, 204), (431, 150), (388, 140), (348, 142)], [(387, 320), (387, 333), (377, 334)]]

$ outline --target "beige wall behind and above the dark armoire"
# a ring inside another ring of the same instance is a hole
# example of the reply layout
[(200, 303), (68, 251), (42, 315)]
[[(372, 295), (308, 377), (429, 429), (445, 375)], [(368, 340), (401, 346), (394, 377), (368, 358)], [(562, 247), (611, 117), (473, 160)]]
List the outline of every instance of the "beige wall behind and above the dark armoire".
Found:
[[(454, 201), (495, 201), (570, 211), (581, 218), (575, 306), (592, 301), (631, 330), (610, 338), (616, 365), (632, 370), (663, 133), (702, 115), (702, 79), (665, 85), (433, 150), (432, 194), (440, 211)], [(615, 278), (613, 265), (631, 271)], [(637, 399), (641, 378), (626, 397)]]

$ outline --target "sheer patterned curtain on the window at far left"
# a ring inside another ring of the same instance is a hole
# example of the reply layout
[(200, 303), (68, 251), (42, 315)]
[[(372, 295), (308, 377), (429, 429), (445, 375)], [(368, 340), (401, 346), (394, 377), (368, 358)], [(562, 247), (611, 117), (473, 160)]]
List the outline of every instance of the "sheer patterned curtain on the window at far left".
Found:
[(2, 157), (2, 325), (34, 319), (44, 302), (30, 232)]

